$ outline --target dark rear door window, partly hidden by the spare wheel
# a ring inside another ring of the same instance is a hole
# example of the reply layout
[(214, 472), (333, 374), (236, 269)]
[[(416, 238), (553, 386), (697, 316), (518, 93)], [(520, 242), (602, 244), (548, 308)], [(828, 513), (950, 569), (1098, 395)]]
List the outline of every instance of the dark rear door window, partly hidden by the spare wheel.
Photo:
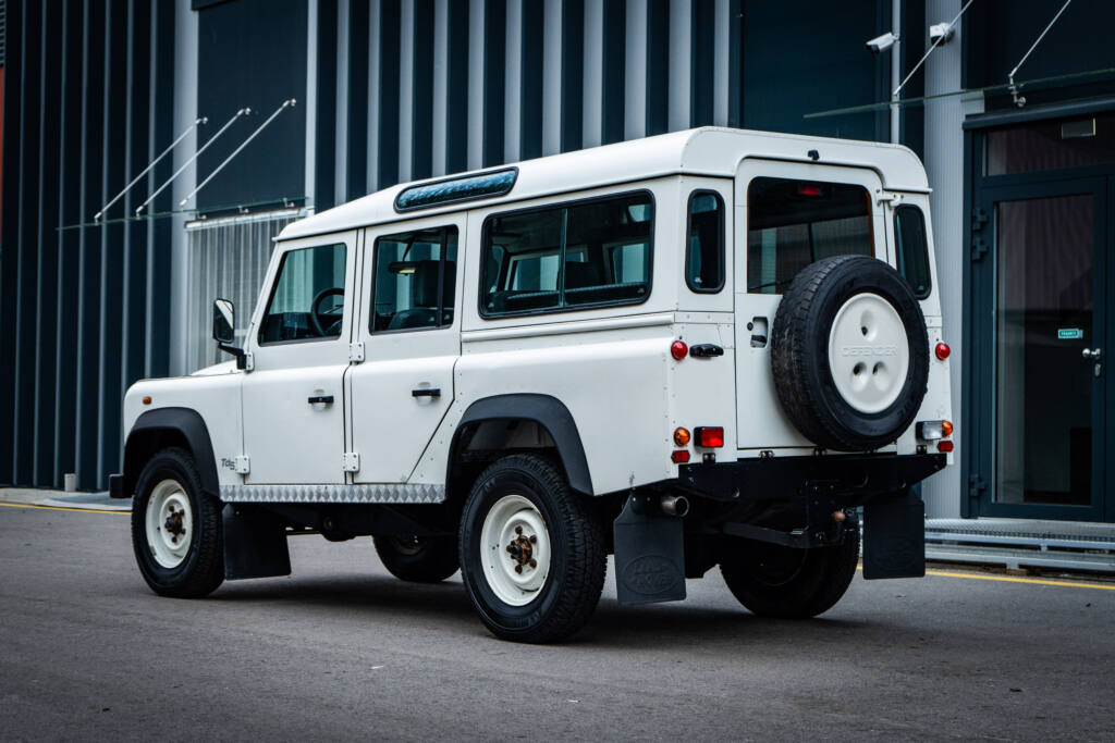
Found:
[(863, 186), (755, 178), (747, 186), (747, 291), (780, 294), (805, 266), (834, 255), (874, 255), (871, 195)]

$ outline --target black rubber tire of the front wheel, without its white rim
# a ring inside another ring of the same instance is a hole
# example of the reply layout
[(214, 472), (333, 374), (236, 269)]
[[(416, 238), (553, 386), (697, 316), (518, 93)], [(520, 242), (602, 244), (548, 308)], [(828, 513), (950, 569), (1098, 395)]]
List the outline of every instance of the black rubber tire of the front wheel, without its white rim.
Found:
[[(159, 564), (146, 530), (147, 506), (155, 489), (167, 480), (181, 486), (193, 522), (185, 556), (173, 567)], [(159, 596), (200, 598), (224, 581), (221, 501), (202, 492), (201, 476), (188, 451), (164, 449), (143, 468), (132, 502), (132, 546), (139, 573)]]

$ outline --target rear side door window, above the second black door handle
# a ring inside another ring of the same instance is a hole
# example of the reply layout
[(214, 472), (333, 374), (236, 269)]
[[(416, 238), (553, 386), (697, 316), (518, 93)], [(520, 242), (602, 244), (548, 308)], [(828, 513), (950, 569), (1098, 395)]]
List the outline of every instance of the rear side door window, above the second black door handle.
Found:
[(456, 278), (456, 227), (379, 237), (371, 332), (452, 325)]

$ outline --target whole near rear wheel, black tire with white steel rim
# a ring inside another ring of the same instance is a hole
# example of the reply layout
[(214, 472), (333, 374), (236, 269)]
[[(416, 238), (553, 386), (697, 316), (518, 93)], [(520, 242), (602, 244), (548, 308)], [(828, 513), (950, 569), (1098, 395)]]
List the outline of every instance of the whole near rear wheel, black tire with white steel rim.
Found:
[(600, 600), (607, 569), (600, 521), (540, 457), (505, 457), (484, 470), (458, 541), (465, 588), (497, 637), (565, 638)]

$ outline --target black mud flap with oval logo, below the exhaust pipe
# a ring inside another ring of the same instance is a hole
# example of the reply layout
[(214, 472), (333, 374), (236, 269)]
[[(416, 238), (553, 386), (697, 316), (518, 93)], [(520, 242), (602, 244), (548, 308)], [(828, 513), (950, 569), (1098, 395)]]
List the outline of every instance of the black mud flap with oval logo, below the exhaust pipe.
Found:
[(666, 516), (650, 496), (631, 496), (612, 525), (615, 594), (620, 604), (678, 602), (686, 597), (681, 519)]

